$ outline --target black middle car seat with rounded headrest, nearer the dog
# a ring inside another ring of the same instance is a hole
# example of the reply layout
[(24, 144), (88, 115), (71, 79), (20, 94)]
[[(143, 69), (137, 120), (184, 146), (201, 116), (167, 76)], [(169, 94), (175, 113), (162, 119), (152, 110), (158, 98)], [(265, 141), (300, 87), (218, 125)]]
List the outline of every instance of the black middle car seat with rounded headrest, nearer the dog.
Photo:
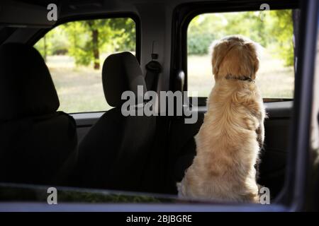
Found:
[[(152, 152), (156, 118), (123, 116), (121, 95), (138, 85), (146, 92), (137, 59), (130, 52), (110, 55), (103, 64), (103, 90), (109, 110), (96, 122), (79, 145), (79, 186), (122, 191), (147, 191), (147, 159)], [(149, 102), (150, 103), (150, 102)], [(135, 106), (135, 111), (145, 103)]]

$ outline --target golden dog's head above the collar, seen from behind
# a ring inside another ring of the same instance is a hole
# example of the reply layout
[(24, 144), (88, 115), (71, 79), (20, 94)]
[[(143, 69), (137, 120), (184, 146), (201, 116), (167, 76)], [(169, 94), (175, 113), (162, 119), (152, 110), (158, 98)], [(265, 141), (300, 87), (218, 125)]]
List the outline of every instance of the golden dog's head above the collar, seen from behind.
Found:
[(229, 74), (256, 78), (259, 45), (247, 37), (231, 35), (212, 44), (213, 75), (217, 81)]

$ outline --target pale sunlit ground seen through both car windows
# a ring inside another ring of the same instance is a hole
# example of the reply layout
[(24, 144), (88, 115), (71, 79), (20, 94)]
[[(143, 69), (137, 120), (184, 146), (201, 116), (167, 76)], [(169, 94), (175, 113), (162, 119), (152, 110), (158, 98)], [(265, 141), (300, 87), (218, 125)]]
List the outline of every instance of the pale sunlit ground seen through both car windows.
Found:
[[(105, 54), (101, 56), (101, 65), (105, 57)], [(211, 57), (189, 56), (188, 64), (188, 90), (197, 91), (200, 97), (207, 97), (214, 84)], [(76, 67), (72, 58), (67, 56), (47, 57), (47, 65), (60, 98), (59, 110), (75, 113), (111, 109), (104, 97), (101, 69)], [(264, 53), (257, 74), (257, 84), (263, 97), (292, 98), (293, 83), (293, 68), (285, 67), (284, 62), (271, 53)]]

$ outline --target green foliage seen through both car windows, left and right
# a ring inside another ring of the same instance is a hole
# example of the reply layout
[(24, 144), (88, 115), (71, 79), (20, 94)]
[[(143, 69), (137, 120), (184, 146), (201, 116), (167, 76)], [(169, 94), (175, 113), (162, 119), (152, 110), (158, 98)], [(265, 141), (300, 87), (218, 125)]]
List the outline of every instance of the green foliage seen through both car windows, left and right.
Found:
[[(189, 54), (208, 54), (213, 40), (226, 35), (250, 37), (263, 47), (275, 49), (286, 66), (293, 65), (291, 10), (267, 11), (261, 20), (257, 11), (208, 13), (189, 24)], [(69, 54), (76, 65), (99, 69), (101, 53), (135, 51), (135, 23), (130, 18), (83, 20), (66, 23), (48, 32), (35, 47), (43, 57)]]

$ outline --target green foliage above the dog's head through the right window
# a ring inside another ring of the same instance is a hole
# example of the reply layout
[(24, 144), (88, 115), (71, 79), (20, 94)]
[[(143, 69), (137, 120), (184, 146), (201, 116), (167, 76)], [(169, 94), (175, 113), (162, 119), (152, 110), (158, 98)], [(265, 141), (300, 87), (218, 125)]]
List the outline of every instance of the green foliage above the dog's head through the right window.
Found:
[(245, 35), (263, 47), (279, 50), (278, 57), (293, 65), (293, 20), (291, 10), (240, 13), (208, 13), (196, 16), (189, 24), (188, 53), (208, 54), (213, 40), (226, 35)]

